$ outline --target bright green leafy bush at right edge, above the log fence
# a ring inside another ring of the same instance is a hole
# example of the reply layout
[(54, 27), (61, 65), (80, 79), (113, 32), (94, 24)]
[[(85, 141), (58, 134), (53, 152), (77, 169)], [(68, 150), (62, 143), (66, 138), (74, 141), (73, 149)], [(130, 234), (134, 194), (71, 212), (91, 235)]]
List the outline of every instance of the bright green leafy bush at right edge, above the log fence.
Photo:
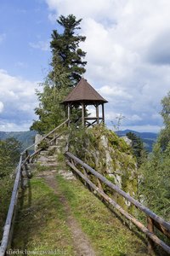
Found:
[(170, 143), (162, 152), (156, 143), (153, 153), (139, 169), (139, 192), (144, 203), (163, 218), (170, 220)]

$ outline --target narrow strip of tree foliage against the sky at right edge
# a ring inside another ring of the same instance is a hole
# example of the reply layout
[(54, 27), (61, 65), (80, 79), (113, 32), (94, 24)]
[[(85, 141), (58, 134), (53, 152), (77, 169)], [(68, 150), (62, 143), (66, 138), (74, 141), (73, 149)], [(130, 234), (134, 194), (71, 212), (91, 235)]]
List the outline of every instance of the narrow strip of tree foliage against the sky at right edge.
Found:
[(165, 127), (161, 130), (158, 141), (161, 144), (161, 148), (165, 150), (170, 142), (170, 91), (167, 93), (167, 96), (161, 100), (161, 105), (161, 116)]

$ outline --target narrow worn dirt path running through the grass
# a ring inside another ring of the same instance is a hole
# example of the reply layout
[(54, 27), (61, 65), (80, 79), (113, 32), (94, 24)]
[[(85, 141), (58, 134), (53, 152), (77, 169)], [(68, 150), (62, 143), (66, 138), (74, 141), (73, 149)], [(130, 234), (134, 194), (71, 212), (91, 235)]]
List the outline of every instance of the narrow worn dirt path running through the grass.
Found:
[(62, 195), (57, 186), (57, 180), (53, 173), (47, 176), (43, 176), (48, 186), (54, 189), (54, 193), (59, 196), (59, 201), (62, 203), (65, 214), (67, 216), (66, 223), (71, 230), (72, 240), (74, 243), (74, 249), (77, 256), (95, 256), (94, 249), (92, 248), (88, 237), (83, 233), (80, 225), (77, 223), (77, 219), (71, 214), (71, 207)]

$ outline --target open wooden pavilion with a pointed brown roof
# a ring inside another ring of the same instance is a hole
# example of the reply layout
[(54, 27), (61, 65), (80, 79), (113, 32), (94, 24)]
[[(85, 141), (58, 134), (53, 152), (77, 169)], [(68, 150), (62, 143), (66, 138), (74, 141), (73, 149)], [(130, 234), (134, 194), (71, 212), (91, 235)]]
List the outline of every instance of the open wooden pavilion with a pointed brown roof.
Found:
[[(71, 93), (62, 102), (67, 107), (68, 119), (71, 120), (71, 108), (82, 107), (82, 126), (90, 126), (105, 123), (104, 104), (107, 101), (88, 84), (86, 79), (81, 79)], [(87, 116), (86, 108), (90, 105), (95, 107), (95, 116)], [(101, 116), (99, 116), (99, 106), (101, 106)]]

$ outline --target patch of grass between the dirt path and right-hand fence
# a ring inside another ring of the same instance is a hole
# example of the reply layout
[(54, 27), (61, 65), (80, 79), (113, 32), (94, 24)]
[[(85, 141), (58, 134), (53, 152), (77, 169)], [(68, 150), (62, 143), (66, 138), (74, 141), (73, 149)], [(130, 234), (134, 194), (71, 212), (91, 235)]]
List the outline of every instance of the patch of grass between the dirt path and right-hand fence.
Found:
[(88, 235), (97, 255), (147, 255), (143, 241), (116, 218), (82, 183), (57, 177), (59, 189), (71, 205), (82, 230)]

